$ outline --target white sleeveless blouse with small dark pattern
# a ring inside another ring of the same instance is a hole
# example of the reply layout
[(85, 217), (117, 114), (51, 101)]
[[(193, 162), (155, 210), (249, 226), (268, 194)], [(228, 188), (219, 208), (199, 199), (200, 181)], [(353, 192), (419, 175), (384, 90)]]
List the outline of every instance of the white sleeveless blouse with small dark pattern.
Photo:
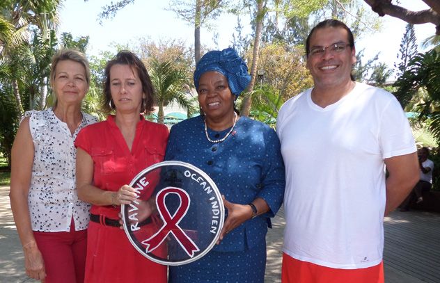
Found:
[(75, 230), (88, 227), (90, 204), (77, 196), (74, 140), (79, 131), (97, 119), (82, 113), (83, 119), (74, 134), (59, 120), (52, 108), (29, 111), (29, 128), (34, 156), (28, 204), (33, 231), (69, 232), (72, 217)]

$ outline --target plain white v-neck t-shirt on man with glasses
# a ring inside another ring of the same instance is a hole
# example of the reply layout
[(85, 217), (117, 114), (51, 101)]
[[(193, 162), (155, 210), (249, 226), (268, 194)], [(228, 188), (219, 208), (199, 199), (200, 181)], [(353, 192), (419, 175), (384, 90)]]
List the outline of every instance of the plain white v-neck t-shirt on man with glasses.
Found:
[(384, 159), (416, 152), (397, 99), (356, 83), (322, 108), (309, 89), (282, 106), (277, 133), (286, 170), (284, 252), (331, 268), (379, 264)]

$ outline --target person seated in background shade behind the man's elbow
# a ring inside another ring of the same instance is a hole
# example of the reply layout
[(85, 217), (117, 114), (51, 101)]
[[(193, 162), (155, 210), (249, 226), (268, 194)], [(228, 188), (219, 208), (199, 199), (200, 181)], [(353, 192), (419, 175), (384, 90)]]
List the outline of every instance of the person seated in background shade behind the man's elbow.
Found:
[(423, 202), (423, 192), (430, 191), (432, 186), (432, 170), (434, 170), (434, 162), (427, 159), (430, 156), (430, 149), (422, 147), (417, 151), (418, 167), (420, 168), (420, 180), (414, 186), (413, 191), (402, 203), (400, 211), (408, 211), (411, 200), (416, 199), (416, 203)]

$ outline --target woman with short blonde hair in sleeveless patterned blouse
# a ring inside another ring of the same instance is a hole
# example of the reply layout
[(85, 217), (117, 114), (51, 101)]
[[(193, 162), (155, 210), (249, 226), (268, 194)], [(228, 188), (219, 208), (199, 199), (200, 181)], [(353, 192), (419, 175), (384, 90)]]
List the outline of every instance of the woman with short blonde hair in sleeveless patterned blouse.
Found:
[(56, 102), (26, 112), (13, 144), (10, 207), (26, 275), (42, 282), (84, 281), (90, 206), (77, 197), (74, 139), (97, 122), (81, 112), (90, 78), (84, 54), (58, 51), (50, 72)]

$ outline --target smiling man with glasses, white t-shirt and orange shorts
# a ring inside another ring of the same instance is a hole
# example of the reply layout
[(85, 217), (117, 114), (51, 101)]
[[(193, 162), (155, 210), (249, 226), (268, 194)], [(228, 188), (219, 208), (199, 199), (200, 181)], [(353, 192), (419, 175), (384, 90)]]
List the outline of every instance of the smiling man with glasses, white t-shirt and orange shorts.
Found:
[(343, 22), (315, 26), (306, 55), (315, 86), (288, 100), (277, 121), (286, 170), (282, 280), (384, 282), (384, 215), (418, 181), (409, 122), (393, 95), (352, 81), (354, 39)]

